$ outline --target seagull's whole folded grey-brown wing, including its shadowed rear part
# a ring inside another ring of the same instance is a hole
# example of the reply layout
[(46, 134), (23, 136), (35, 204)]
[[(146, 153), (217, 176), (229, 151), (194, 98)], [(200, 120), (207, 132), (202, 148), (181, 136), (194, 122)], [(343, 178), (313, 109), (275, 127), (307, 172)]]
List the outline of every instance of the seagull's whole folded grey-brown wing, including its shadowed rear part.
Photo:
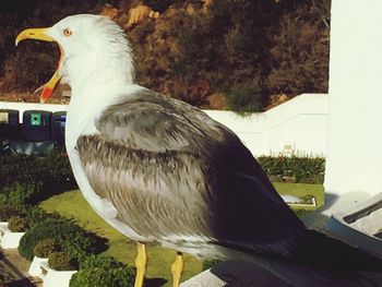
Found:
[(84, 170), (146, 238), (287, 253), (303, 230), (239, 139), (199, 109), (144, 89), (96, 127), (77, 142)]

